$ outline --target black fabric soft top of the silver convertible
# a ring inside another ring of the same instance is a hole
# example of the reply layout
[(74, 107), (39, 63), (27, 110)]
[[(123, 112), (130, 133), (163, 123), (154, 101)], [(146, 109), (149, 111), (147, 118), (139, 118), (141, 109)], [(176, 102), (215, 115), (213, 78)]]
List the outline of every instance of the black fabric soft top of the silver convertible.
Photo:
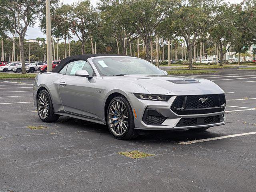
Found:
[(118, 54), (84, 54), (84, 55), (75, 55), (75, 56), (70, 56), (66, 57), (65, 59), (61, 60), (60, 64), (56, 66), (52, 72), (60, 72), (62, 68), (69, 62), (77, 61), (77, 60), (84, 60), (87, 61), (88, 58), (91, 57), (98, 57), (98, 56), (124, 56), (124, 55), (118, 55)]

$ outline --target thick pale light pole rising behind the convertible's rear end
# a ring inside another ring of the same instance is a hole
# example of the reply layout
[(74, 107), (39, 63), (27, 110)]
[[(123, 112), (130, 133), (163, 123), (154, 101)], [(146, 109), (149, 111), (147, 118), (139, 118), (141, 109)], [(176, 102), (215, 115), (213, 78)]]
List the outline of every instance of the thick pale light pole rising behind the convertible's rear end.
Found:
[(46, 41), (47, 41), (47, 71), (52, 71), (52, 28), (50, 0), (46, 0)]

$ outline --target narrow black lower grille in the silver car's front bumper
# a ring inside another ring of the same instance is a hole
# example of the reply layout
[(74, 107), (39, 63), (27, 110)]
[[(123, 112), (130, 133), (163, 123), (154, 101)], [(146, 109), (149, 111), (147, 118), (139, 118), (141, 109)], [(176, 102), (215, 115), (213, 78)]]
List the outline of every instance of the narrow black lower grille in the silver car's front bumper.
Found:
[(193, 126), (193, 125), (207, 125), (220, 122), (220, 117), (210, 116), (210, 117), (198, 117), (198, 118), (181, 118), (177, 127), (181, 126)]

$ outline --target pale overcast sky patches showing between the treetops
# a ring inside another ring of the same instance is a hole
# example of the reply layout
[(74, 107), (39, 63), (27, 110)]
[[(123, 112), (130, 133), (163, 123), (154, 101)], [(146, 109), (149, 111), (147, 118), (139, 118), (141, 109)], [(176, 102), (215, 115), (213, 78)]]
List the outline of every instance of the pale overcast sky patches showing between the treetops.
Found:
[[(61, 2), (63, 2), (64, 4), (71, 4), (76, 2), (77, 0), (60, 0)], [(90, 0), (93, 6), (97, 5), (98, 0)], [(230, 3), (240, 3), (242, 0), (225, 0), (226, 2), (230, 2)], [(37, 37), (41, 37), (41, 38), (46, 38), (46, 35), (43, 34), (40, 31), (40, 28), (38, 27), (38, 23), (35, 24), (35, 26), (33, 28), (28, 27), (28, 31), (27, 31), (27, 35), (26, 35), (26, 39), (36, 39)], [(78, 38), (76, 38), (76, 36), (74, 36), (73, 38), (74, 40), (78, 40)]]

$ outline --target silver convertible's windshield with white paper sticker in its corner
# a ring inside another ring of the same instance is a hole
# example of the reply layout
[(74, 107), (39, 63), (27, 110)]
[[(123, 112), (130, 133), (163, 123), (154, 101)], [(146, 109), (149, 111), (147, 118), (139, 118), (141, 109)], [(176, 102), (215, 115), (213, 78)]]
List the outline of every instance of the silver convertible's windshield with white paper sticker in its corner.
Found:
[(100, 76), (116, 76), (116, 75), (164, 75), (164, 72), (139, 58), (128, 57), (104, 57), (93, 59), (92, 62), (96, 66)]

